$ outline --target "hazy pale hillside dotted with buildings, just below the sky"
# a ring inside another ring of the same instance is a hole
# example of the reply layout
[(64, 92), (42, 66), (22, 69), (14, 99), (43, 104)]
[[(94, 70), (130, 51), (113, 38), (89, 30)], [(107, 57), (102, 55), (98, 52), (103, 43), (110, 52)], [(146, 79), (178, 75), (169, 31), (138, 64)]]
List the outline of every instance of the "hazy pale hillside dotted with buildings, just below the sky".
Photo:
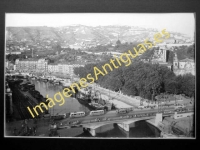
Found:
[[(122, 44), (130, 42), (143, 42), (160, 32), (134, 26), (84, 26), (71, 25), (64, 27), (6, 27), (6, 47), (12, 50), (52, 50), (56, 45), (62, 48), (85, 49), (99, 45), (114, 45), (118, 40)], [(166, 42), (185, 43), (191, 39), (180, 33), (170, 32), (170, 39)]]

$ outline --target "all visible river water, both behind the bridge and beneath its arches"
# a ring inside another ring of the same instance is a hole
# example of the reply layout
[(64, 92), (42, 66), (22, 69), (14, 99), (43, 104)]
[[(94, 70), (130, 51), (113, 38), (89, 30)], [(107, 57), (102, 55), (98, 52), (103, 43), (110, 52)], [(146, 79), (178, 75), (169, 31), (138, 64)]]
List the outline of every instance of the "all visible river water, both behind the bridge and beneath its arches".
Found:
[[(53, 85), (49, 82), (40, 82), (40, 81), (31, 81), (35, 84), (35, 89), (39, 91), (44, 97), (48, 95), (48, 97), (53, 98), (54, 94), (57, 92), (61, 92), (63, 87), (61, 85)], [(54, 99), (54, 98), (53, 98)], [(59, 102), (55, 102), (56, 105), (49, 110), (49, 113), (56, 114), (56, 113), (69, 113), (73, 111), (90, 111), (86, 106), (80, 104), (78, 100), (75, 98), (65, 98), (65, 103), (62, 106), (59, 106)], [(147, 137), (158, 137), (158, 132), (155, 133), (149, 127), (145, 121), (137, 122), (135, 127), (131, 127), (128, 135), (124, 133), (117, 125), (110, 124), (103, 127), (100, 127), (96, 132), (96, 137), (130, 137), (130, 138), (147, 138)], [(71, 129), (69, 129), (71, 130)], [(153, 129), (154, 130), (154, 129)], [(66, 134), (65, 134), (66, 136)], [(76, 137), (91, 137), (90, 134), (87, 132), (83, 132), (82, 129), (75, 129), (73, 128), (69, 134), (69, 137), (76, 136)]]

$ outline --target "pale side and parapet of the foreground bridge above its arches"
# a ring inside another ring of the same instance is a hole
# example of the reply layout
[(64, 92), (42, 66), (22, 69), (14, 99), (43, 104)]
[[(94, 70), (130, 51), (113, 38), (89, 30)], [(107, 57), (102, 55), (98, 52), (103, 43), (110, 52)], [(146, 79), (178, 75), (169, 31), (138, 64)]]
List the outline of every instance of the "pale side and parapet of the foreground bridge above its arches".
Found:
[[(189, 113), (189, 114), (188, 114)], [(86, 117), (86, 118), (66, 118), (62, 121), (63, 125), (65, 126), (85, 126), (86, 128), (96, 129), (100, 126), (105, 124), (112, 124), (112, 123), (125, 123), (128, 125), (133, 125), (133, 122), (139, 120), (147, 120), (151, 118), (155, 119), (156, 126), (159, 122), (162, 122), (164, 116), (174, 116), (174, 117), (181, 117), (181, 116), (188, 116), (190, 113), (193, 114), (193, 111), (178, 111), (178, 113), (174, 110), (165, 110), (163, 112), (157, 113), (156, 111), (151, 112), (142, 112), (142, 113), (128, 113), (128, 114), (121, 114), (120, 116), (113, 115), (113, 117), (106, 117), (106, 116), (94, 116), (94, 117)], [(177, 114), (177, 115), (176, 115)], [(183, 115), (187, 114), (187, 115)], [(110, 114), (109, 114), (110, 115)], [(127, 121), (130, 121), (129, 123)]]

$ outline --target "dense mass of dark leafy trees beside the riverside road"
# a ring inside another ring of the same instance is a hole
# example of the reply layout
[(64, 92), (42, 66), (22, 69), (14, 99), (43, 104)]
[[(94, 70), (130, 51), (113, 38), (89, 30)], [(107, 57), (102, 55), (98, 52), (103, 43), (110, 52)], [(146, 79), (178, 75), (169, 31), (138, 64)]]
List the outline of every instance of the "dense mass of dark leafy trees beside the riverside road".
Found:
[[(74, 73), (80, 77), (93, 74), (93, 67), (101, 68), (106, 62), (87, 64), (75, 68)], [(195, 95), (195, 76), (192, 74), (176, 76), (170, 69), (159, 64), (144, 63), (134, 60), (128, 67), (119, 67), (96, 81), (100, 86), (122, 91), (130, 96), (154, 99), (160, 93)]]

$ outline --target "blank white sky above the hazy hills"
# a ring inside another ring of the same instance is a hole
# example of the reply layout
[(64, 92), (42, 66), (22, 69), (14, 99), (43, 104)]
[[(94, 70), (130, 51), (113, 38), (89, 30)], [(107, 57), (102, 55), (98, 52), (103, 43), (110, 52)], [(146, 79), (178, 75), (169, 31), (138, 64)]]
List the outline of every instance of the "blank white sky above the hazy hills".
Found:
[(193, 13), (6, 13), (6, 27), (74, 24), (86, 26), (127, 25), (166, 29), (194, 37)]

